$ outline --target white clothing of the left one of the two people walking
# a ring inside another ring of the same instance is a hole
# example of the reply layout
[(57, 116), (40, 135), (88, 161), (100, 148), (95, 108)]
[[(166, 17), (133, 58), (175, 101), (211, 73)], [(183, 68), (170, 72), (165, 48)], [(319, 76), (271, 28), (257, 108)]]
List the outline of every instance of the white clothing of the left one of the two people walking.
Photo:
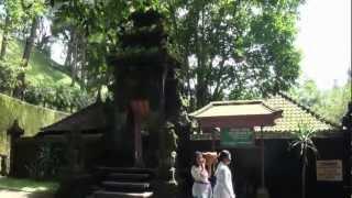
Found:
[(190, 174), (195, 180), (191, 194), (197, 198), (211, 198), (211, 185), (209, 183), (209, 174), (201, 166), (191, 166)]

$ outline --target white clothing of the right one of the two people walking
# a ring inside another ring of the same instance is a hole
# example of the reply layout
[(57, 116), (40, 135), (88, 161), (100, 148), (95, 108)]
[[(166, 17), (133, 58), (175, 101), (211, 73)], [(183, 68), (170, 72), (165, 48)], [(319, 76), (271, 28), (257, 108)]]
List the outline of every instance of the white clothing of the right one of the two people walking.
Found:
[(229, 166), (220, 162), (215, 175), (217, 182), (213, 187), (213, 198), (235, 198)]

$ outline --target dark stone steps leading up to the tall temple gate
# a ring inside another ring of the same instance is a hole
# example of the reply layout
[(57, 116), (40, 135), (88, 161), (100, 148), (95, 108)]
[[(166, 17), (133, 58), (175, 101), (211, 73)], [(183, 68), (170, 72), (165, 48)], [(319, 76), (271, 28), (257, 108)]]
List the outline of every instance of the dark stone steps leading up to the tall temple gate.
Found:
[(98, 167), (101, 183), (92, 198), (147, 198), (153, 196), (151, 182), (154, 172), (135, 167)]

